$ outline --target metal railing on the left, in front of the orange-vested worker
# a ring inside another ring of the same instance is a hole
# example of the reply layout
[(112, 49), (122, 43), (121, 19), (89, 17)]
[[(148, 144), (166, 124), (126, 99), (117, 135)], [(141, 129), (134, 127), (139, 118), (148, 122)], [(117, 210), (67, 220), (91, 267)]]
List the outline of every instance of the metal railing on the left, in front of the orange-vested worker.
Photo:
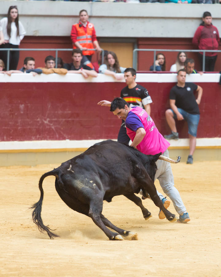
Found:
[[(91, 51), (97, 51), (96, 49), (87, 49)], [(59, 48), (0, 48), (0, 51), (7, 51), (7, 63), (6, 70), (9, 70), (10, 51), (55, 51), (55, 67), (57, 67), (58, 51), (73, 51), (73, 49), (59, 49)], [(104, 60), (104, 50), (101, 49), (101, 62)]]

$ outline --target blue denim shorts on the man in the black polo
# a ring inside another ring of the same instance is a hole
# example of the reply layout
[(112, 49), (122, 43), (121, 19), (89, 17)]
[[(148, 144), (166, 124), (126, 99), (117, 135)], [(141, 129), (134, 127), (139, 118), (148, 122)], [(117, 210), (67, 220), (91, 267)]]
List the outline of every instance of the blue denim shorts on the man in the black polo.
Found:
[[(172, 110), (172, 109), (170, 109)], [(193, 137), (196, 137), (197, 134), (197, 127), (200, 121), (200, 115), (199, 114), (189, 114), (188, 112), (177, 108), (180, 114), (182, 114), (184, 120), (187, 121), (188, 124), (188, 134), (192, 135)], [(173, 112), (173, 117), (176, 119), (176, 114)]]

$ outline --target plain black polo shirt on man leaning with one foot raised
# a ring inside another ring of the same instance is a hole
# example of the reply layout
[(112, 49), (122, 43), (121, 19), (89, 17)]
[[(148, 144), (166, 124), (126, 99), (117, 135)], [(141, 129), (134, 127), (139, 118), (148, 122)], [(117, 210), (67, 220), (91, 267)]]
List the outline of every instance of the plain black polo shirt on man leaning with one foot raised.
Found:
[(193, 94), (197, 89), (194, 83), (185, 83), (184, 87), (173, 86), (170, 90), (169, 98), (176, 100), (175, 105), (177, 108), (183, 109), (189, 114), (200, 114), (199, 106), (196, 103), (196, 97)]

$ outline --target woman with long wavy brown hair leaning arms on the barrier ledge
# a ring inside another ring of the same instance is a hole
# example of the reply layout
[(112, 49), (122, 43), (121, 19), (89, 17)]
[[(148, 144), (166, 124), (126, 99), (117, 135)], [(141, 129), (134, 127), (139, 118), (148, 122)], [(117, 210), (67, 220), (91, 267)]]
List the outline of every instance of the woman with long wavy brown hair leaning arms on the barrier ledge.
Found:
[(118, 75), (117, 73), (123, 73), (125, 69), (125, 67), (119, 65), (117, 55), (112, 51), (108, 51), (104, 63), (99, 67), (99, 73), (111, 75), (116, 80), (122, 80), (124, 75)]

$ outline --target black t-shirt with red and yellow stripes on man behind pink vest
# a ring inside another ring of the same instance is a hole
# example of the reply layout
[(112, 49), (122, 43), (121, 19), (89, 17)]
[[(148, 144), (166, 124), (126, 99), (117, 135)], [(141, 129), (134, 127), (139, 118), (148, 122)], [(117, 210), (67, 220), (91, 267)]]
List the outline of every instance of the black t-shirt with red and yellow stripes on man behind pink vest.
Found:
[(153, 102), (147, 89), (141, 85), (136, 85), (132, 89), (129, 89), (128, 86), (124, 87), (121, 90), (121, 98), (123, 98), (130, 107), (140, 106), (144, 108), (143, 105)]

